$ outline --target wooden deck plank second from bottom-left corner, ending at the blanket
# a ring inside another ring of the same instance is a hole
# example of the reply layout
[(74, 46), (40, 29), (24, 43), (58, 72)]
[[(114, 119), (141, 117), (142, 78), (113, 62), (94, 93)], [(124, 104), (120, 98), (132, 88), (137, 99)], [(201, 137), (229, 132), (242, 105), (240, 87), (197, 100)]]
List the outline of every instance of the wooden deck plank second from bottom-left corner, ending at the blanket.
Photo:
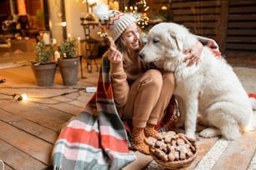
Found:
[(24, 133), (18, 128), (13, 128), (13, 126), (5, 122), (0, 122), (0, 129), (0, 138), (3, 141), (8, 141), (13, 147), (19, 148), (31, 157), (49, 165), (51, 150), (53, 148), (52, 144), (46, 143), (28, 133)]

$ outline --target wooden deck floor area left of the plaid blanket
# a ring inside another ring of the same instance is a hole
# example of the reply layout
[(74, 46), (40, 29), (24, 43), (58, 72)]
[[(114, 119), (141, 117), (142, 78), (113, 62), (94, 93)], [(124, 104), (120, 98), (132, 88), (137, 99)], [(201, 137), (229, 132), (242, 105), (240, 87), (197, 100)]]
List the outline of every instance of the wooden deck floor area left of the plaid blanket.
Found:
[[(57, 70), (54, 87), (38, 87), (30, 66), (0, 70), (0, 79), (6, 79), (0, 84), (0, 160), (5, 169), (49, 167), (60, 126), (81, 112), (92, 96), (84, 87), (96, 85), (98, 72), (84, 68), (83, 74), (87, 78), (81, 79), (79, 73), (78, 84), (65, 87)], [(70, 94), (61, 96), (65, 92)], [(11, 96), (23, 93), (28, 101)]]

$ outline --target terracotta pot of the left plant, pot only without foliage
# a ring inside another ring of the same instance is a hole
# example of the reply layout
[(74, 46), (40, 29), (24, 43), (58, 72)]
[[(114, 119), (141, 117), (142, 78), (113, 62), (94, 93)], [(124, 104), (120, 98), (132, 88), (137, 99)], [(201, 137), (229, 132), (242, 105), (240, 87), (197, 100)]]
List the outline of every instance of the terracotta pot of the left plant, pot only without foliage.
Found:
[(56, 63), (32, 64), (33, 75), (37, 80), (38, 86), (53, 86), (56, 72)]

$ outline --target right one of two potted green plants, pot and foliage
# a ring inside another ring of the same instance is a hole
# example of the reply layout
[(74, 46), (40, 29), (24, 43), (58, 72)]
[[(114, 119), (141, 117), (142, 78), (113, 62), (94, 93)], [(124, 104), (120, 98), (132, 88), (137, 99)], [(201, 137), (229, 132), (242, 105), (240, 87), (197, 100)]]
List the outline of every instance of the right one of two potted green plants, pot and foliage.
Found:
[(80, 60), (79, 57), (75, 56), (76, 48), (77, 40), (75, 38), (71, 39), (70, 37), (63, 40), (58, 46), (60, 53), (58, 64), (64, 85), (75, 85), (78, 81)]

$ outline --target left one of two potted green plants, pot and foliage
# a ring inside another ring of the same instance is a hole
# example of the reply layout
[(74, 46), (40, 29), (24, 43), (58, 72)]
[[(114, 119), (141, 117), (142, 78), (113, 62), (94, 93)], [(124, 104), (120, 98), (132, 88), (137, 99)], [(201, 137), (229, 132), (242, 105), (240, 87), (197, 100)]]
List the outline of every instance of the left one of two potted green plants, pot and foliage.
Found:
[(56, 72), (56, 63), (52, 62), (54, 55), (54, 43), (46, 45), (44, 40), (33, 45), (36, 54), (36, 62), (32, 63), (33, 74), (38, 86), (53, 86)]

